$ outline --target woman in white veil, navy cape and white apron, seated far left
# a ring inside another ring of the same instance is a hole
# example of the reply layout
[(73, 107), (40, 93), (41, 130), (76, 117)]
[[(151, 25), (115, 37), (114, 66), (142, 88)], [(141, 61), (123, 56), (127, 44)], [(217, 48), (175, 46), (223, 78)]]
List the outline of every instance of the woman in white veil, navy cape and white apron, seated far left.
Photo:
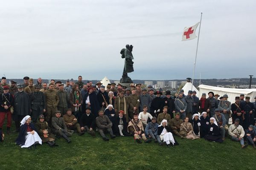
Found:
[(36, 148), (36, 144), (42, 144), (42, 139), (36, 132), (35, 126), (31, 123), (31, 117), (25, 116), (21, 120), (20, 133), (16, 139), (16, 144), (20, 147), (29, 147), (33, 146)]

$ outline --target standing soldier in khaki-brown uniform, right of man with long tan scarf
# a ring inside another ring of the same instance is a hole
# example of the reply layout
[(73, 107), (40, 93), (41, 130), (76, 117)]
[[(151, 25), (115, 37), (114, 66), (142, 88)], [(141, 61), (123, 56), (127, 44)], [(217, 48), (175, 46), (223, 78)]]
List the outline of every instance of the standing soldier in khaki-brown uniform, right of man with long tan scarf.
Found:
[(131, 95), (128, 96), (128, 112), (130, 119), (133, 119), (134, 112), (139, 113), (140, 98), (136, 95), (136, 89), (131, 89)]

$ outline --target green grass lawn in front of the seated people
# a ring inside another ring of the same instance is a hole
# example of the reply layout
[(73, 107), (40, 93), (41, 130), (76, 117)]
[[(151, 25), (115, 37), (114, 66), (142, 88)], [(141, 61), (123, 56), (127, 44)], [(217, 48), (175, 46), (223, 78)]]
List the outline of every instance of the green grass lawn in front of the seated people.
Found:
[(176, 137), (180, 145), (169, 148), (153, 142), (137, 144), (132, 137), (104, 142), (98, 133), (95, 138), (75, 133), (70, 144), (61, 138), (56, 139), (58, 147), (44, 143), (29, 150), (15, 145), (17, 135), (6, 135), (0, 143), (0, 170), (255, 169), (256, 149), (241, 149), (239, 142), (228, 138), (219, 144)]

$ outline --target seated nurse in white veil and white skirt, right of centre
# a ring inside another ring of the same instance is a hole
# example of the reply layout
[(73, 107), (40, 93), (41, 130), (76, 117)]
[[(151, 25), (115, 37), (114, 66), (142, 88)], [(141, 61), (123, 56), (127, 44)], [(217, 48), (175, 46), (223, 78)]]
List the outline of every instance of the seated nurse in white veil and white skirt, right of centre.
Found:
[(161, 125), (158, 126), (157, 135), (159, 135), (160, 139), (163, 140), (163, 143), (160, 143), (160, 145), (167, 144), (169, 147), (178, 145), (178, 142), (171, 133), (170, 127), (167, 126), (166, 119), (163, 119)]

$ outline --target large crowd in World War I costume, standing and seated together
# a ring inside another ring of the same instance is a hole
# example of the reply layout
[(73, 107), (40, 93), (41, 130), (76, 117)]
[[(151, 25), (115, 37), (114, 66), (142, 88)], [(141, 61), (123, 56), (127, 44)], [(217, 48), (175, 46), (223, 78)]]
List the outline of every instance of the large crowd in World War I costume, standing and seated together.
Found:
[[(185, 96), (181, 89), (175, 96), (167, 90), (156, 91), (149, 85), (130, 87), (111, 83), (106, 87), (101, 82), (82, 82), (67, 79), (62, 82), (35, 83), (24, 77), (24, 84), (11, 85), (2, 77), (0, 85), (0, 134), (7, 119), (6, 133), (10, 133), (12, 120), (19, 135), (16, 143), (20, 147), (36, 147), (46, 142), (50, 147), (58, 146), (55, 138), (63, 137), (68, 143), (70, 136), (85, 132), (104, 141), (116, 136), (133, 136), (137, 143), (154, 141), (160, 145), (178, 145), (175, 136), (181, 139), (205, 138), (223, 142), (225, 136), (239, 141), (241, 147), (256, 143), (255, 108), (248, 96), (241, 94), (231, 104), (228, 96), (219, 97), (213, 92), (202, 94), (189, 91)], [(232, 118), (233, 124), (228, 121)], [(2, 139), (1, 138), (1, 139)]]

